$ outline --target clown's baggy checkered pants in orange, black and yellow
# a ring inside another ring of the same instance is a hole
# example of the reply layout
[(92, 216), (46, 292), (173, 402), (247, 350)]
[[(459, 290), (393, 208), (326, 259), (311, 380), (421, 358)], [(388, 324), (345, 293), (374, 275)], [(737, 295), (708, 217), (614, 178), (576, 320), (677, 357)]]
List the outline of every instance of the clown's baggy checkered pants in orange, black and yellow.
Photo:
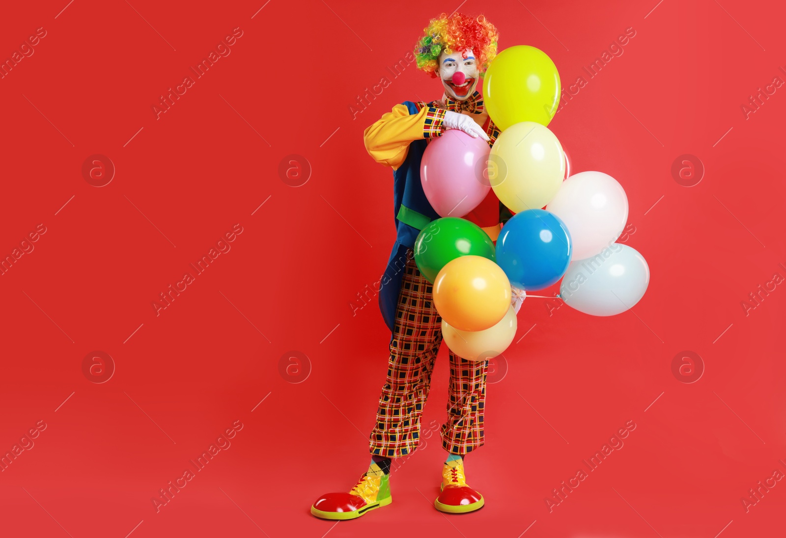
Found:
[[(418, 271), (412, 251), (404, 268), (387, 380), (382, 387), (371, 453), (388, 458), (410, 454), (421, 435), (421, 414), (434, 361), (442, 344), (442, 318), (432, 302), (432, 285)], [(488, 361), (472, 362), (450, 352), (447, 422), (443, 448), (466, 454), (483, 445), (483, 407)]]

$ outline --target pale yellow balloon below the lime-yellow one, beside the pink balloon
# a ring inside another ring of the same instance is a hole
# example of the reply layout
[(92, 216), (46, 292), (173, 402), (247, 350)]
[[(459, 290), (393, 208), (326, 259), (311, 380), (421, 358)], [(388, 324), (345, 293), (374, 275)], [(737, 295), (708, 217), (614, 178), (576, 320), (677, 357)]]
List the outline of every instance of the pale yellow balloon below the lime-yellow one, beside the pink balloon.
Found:
[(565, 177), (565, 152), (549, 127), (523, 121), (503, 131), (491, 147), (488, 178), (512, 212), (552, 201)]

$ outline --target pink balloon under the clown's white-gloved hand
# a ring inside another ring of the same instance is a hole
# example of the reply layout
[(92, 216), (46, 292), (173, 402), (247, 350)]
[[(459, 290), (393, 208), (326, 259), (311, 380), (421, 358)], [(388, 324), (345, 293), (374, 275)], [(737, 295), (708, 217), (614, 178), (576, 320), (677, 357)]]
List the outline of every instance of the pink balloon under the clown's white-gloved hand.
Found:
[(483, 177), (490, 152), (483, 138), (448, 129), (432, 138), (421, 159), (421, 185), (439, 216), (465, 216), (478, 207), (491, 186)]

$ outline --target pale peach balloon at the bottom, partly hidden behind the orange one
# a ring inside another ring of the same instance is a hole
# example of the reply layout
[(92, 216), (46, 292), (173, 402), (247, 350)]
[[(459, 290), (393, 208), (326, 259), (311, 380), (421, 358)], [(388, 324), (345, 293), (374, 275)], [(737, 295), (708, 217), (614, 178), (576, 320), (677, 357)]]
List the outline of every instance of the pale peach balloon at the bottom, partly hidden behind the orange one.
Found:
[(505, 316), (487, 330), (458, 330), (443, 319), (443, 339), (457, 356), (479, 361), (493, 359), (504, 352), (516, 336), (516, 312), (509, 307)]

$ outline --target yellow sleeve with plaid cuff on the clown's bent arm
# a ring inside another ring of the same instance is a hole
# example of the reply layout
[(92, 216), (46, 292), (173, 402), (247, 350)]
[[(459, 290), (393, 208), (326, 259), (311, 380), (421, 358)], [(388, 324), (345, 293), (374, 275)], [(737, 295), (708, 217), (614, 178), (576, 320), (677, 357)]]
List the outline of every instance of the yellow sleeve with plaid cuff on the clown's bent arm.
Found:
[(395, 105), (363, 131), (363, 143), (369, 155), (380, 164), (397, 170), (406, 159), (410, 142), (442, 134), (443, 109), (424, 106), (410, 114), (406, 105)]

